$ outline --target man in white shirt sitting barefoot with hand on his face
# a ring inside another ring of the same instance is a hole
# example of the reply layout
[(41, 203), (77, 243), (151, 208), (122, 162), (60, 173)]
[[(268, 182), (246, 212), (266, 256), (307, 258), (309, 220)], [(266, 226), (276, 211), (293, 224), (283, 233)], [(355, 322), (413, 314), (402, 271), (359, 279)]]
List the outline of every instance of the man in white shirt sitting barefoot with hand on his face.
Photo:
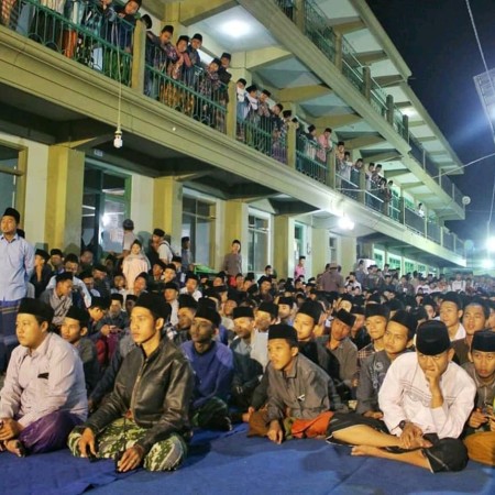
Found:
[(441, 321), (417, 331), (416, 353), (397, 358), (380, 389), (381, 421), (336, 415), (330, 435), (356, 446), (353, 455), (373, 455), (431, 470), (461, 471), (468, 452), (459, 440), (473, 408), (476, 387), (457, 364), (449, 332)]

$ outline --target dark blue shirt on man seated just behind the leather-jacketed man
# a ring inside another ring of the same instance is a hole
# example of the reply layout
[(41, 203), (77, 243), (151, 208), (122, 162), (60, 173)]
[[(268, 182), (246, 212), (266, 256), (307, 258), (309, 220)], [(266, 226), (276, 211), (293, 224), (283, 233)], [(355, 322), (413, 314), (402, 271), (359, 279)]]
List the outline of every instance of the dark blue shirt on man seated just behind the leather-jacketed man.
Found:
[(227, 399), (232, 385), (232, 351), (216, 341), (202, 354), (196, 351), (191, 340), (184, 342), (180, 346), (195, 372), (193, 408), (201, 407), (212, 397)]

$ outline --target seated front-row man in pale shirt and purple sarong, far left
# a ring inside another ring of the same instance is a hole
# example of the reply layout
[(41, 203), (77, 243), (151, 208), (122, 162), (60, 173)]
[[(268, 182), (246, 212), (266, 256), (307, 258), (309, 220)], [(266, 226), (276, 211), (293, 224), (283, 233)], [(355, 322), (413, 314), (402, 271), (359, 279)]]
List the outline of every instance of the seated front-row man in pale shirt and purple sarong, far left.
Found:
[(0, 395), (0, 451), (23, 457), (63, 449), (87, 416), (82, 363), (76, 350), (51, 332), (52, 307), (21, 299), (19, 343)]

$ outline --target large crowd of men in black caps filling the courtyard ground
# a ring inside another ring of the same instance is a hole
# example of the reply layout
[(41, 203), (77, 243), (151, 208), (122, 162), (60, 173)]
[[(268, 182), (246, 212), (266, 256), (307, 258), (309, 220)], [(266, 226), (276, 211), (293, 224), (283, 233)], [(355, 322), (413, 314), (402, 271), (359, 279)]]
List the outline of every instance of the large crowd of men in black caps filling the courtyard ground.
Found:
[(294, 277), (256, 277), (239, 240), (209, 277), (160, 228), (143, 254), (127, 220), (122, 252), (95, 260), (34, 251), (19, 226), (8, 208), (0, 450), (168, 471), (197, 429), (246, 422), (435, 473), (495, 464), (493, 278), (441, 285), (363, 261), (309, 277), (304, 256)]

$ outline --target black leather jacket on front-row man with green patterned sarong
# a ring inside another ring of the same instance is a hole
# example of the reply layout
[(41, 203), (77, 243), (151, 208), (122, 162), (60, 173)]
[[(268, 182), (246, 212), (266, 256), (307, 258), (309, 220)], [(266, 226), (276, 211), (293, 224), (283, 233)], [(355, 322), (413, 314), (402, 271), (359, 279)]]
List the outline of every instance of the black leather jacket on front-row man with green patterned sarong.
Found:
[(170, 433), (189, 429), (188, 410), (194, 391), (193, 369), (182, 351), (162, 338), (146, 359), (142, 348), (123, 360), (108, 400), (86, 421), (96, 435), (128, 410), (138, 426), (148, 429), (136, 442), (145, 453)]

